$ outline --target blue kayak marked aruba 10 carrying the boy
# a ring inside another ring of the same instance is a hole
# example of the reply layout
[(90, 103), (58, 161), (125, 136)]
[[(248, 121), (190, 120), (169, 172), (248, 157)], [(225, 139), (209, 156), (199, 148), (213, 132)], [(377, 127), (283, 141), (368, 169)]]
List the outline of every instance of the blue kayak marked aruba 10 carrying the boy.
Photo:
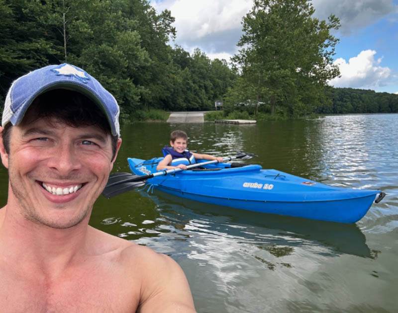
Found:
[[(156, 172), (163, 157), (128, 158), (136, 175)], [(198, 160), (204, 161), (204, 160)], [(384, 193), (325, 185), (260, 165), (216, 163), (147, 180), (179, 197), (237, 209), (312, 220), (355, 223)]]

